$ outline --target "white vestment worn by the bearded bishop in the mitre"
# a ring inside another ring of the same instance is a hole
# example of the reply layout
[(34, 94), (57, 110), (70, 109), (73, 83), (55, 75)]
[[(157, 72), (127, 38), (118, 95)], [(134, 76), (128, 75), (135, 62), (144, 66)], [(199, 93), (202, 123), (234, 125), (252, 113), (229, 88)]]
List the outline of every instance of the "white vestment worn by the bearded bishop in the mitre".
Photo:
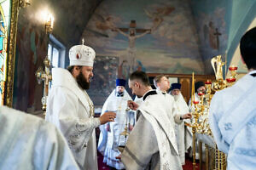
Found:
[(93, 103), (69, 71), (54, 68), (52, 77), (45, 119), (61, 129), (81, 169), (97, 170), (95, 128), (101, 122)]

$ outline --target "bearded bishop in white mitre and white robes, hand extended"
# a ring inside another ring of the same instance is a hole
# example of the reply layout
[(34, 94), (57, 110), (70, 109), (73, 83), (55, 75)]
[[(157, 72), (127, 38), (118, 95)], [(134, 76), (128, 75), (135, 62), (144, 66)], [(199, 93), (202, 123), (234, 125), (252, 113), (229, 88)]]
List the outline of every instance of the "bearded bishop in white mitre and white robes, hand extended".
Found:
[(94, 49), (84, 44), (70, 48), (67, 70), (52, 70), (53, 86), (45, 117), (60, 128), (79, 167), (86, 170), (98, 169), (95, 128), (115, 118), (113, 112), (94, 118), (94, 105), (85, 91), (93, 77), (95, 56)]

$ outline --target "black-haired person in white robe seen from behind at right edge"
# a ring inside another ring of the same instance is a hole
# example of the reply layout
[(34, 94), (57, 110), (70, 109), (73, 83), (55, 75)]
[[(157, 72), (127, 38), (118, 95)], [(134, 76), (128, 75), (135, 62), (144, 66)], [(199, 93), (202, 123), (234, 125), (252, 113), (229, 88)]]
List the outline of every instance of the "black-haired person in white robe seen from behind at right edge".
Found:
[(248, 73), (213, 95), (209, 122), (227, 169), (256, 169), (256, 27), (241, 37), (241, 59)]

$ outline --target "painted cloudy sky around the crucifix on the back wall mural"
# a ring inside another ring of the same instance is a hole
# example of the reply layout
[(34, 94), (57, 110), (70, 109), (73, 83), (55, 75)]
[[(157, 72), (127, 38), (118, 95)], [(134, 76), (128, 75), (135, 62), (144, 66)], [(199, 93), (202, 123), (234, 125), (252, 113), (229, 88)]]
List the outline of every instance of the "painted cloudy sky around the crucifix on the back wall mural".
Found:
[[(82, 37), (97, 55), (119, 57), (119, 65), (126, 63), (132, 70), (202, 74), (199, 39), (188, 2), (106, 0), (96, 8)], [(111, 29), (128, 28), (131, 20), (136, 20), (137, 28), (157, 26), (150, 34), (136, 38), (136, 49), (132, 49), (135, 59), (128, 54), (128, 37)]]

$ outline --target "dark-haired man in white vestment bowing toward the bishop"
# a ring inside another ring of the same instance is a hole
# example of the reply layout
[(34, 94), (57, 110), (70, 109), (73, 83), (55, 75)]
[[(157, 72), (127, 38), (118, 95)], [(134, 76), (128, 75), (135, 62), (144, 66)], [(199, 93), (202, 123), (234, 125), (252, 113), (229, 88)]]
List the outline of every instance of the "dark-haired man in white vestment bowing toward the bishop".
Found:
[(181, 123), (183, 117), (174, 114), (176, 108), (172, 96), (152, 90), (148, 76), (143, 71), (131, 74), (129, 87), (132, 94), (143, 97), (143, 103), (138, 106), (129, 101), (130, 108), (137, 110), (137, 115), (140, 116), (121, 154), (125, 168), (182, 169), (174, 124)]

